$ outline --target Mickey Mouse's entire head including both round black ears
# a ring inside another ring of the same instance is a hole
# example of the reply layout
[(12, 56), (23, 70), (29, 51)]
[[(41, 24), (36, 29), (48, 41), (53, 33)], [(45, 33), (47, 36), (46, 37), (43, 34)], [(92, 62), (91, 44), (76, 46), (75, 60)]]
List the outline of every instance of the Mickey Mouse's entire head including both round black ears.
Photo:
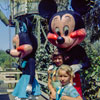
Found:
[[(90, 9), (91, 0), (78, 0), (78, 3), (76, 2), (77, 0), (71, 0), (70, 2), (73, 11), (60, 12), (57, 12), (57, 5), (54, 0), (42, 0), (39, 4), (40, 16), (50, 19), (47, 38), (49, 42), (58, 48), (70, 50), (80, 44), (86, 36), (82, 15)], [(45, 7), (42, 7), (43, 5)]]

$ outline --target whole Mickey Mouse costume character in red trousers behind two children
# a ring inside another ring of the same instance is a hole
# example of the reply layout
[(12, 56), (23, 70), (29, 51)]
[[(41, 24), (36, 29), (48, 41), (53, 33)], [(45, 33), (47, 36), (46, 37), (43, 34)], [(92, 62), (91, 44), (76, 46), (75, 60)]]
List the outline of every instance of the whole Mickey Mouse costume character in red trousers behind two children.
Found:
[[(53, 3), (55, 0), (51, 0)], [(65, 56), (65, 64), (70, 65), (74, 72), (74, 87), (82, 96), (80, 69), (90, 67), (90, 61), (87, 54), (80, 44), (85, 36), (86, 30), (82, 20), (82, 15), (90, 10), (91, 0), (69, 0), (69, 9), (57, 12), (57, 6), (52, 7), (48, 2), (48, 6), (44, 4), (46, 0), (41, 0), (39, 4), (40, 16), (49, 20), (49, 33), (47, 38), (50, 43), (58, 48)], [(46, 2), (47, 3), (47, 2)], [(49, 11), (45, 8), (49, 7)], [(55, 9), (54, 9), (55, 8)], [(57, 13), (54, 13), (57, 12)], [(48, 15), (48, 16), (47, 16)]]

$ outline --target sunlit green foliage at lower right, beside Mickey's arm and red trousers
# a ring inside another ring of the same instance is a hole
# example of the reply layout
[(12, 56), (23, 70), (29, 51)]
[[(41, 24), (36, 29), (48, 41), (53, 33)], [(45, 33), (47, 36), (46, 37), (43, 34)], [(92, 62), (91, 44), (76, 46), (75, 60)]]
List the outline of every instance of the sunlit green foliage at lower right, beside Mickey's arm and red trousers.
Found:
[(86, 100), (96, 100), (97, 92), (100, 86), (97, 84), (100, 82), (100, 55), (98, 54), (98, 44), (92, 44), (89, 40), (85, 39), (82, 44), (90, 58), (91, 67), (81, 72), (83, 95)]

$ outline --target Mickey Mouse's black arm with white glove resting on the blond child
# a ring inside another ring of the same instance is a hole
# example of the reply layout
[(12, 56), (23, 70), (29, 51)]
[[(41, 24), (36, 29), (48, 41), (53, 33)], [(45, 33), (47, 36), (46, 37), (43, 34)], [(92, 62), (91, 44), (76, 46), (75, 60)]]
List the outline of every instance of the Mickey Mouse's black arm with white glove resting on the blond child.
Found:
[[(71, 53), (71, 67), (74, 72), (80, 71), (80, 69), (88, 69), (91, 67), (90, 60), (81, 46), (77, 45), (70, 51)], [(67, 62), (67, 61), (66, 61)]]

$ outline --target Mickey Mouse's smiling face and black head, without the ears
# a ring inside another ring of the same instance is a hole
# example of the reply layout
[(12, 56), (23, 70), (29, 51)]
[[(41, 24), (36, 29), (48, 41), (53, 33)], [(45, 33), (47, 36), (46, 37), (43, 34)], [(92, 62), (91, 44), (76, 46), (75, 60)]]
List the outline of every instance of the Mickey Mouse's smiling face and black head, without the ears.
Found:
[(62, 11), (55, 14), (49, 24), (48, 40), (59, 48), (71, 49), (82, 42), (86, 36), (81, 16), (72, 11)]

